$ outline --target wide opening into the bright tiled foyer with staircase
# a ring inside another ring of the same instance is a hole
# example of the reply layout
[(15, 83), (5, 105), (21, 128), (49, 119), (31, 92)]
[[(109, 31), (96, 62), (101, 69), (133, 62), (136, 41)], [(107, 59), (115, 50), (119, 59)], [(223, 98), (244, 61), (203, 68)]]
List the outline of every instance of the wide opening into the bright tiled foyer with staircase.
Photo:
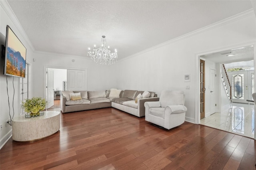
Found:
[[(244, 47), (237, 47), (234, 49), (228, 49), (225, 51), (219, 51), (214, 53), (209, 53), (206, 55), (201, 55), (200, 59), (205, 60), (205, 65), (207, 67), (205, 71), (205, 82), (206, 82), (206, 97), (205, 97), (205, 118), (198, 119), (199, 124), (206, 125), (209, 127), (218, 128), (221, 130), (225, 130), (228, 132), (240, 134), (242, 136), (247, 136), (251, 138), (255, 138), (255, 130), (254, 130), (254, 104), (248, 103), (246, 100), (251, 99), (251, 94), (254, 92), (254, 70), (250, 71), (242, 71), (237, 70), (237, 72), (230, 73), (229, 79), (232, 82), (232, 96), (236, 94), (235, 97), (232, 98), (232, 102), (230, 102), (230, 98), (227, 94), (225, 94), (225, 85), (222, 83), (222, 74), (220, 71), (221, 63), (234, 65), (234, 63), (240, 62), (240, 67), (248, 66), (246, 62), (250, 61), (252, 63), (252, 67), (254, 67), (254, 45), (247, 45)], [(235, 56), (235, 57), (234, 57)], [(242, 58), (242, 59), (241, 59)], [(200, 60), (201, 62), (201, 60)], [(208, 86), (207, 82), (210, 82), (214, 73), (211, 73), (208, 76), (207, 65), (216, 66), (217, 75), (217, 83), (215, 90), (212, 90), (211, 84)], [(201, 67), (201, 65), (200, 65)], [(198, 67), (200, 70), (201, 68)], [(201, 72), (201, 71), (200, 71)], [(201, 82), (201, 80), (200, 80)], [(200, 85), (200, 91), (201, 91)], [(209, 90), (208, 90), (209, 89)], [(215, 91), (215, 92), (213, 92)], [(223, 93), (224, 92), (224, 93)], [(211, 94), (215, 93), (216, 95), (216, 113), (212, 114), (212, 103)], [(200, 93), (200, 97), (201, 97)], [(235, 98), (235, 99), (234, 99)], [(202, 101), (200, 100), (200, 103)], [(239, 102), (239, 103), (235, 103)], [(240, 103), (246, 103), (246, 105), (239, 105)], [(209, 115), (208, 115), (209, 111)], [(201, 115), (201, 112), (199, 112)], [(212, 114), (212, 115), (211, 115)], [(199, 115), (199, 116), (200, 116)], [(210, 116), (211, 115), (211, 116)], [(248, 119), (248, 120), (247, 120)]]

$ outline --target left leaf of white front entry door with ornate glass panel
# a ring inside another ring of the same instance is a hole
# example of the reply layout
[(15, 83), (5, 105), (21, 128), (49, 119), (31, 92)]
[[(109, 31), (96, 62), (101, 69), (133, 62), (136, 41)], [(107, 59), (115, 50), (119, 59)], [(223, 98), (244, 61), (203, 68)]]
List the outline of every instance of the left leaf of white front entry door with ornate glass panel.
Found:
[(232, 82), (232, 102), (248, 103), (248, 71), (233, 71), (229, 73)]

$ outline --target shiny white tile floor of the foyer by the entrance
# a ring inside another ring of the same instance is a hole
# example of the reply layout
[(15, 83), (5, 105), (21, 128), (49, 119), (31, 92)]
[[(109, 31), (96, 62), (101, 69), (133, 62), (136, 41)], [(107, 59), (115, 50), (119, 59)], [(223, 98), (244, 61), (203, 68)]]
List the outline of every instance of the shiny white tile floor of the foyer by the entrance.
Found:
[(254, 138), (254, 105), (231, 103), (229, 109), (201, 119), (200, 124)]

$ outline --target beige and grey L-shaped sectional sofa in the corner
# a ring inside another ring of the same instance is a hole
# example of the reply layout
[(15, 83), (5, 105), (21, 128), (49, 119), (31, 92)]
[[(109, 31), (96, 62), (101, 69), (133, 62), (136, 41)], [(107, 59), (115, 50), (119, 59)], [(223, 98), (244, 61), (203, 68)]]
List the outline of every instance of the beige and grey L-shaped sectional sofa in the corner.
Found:
[[(71, 100), (70, 93), (80, 94), (81, 99)], [(110, 90), (106, 91), (62, 91), (60, 96), (60, 109), (62, 113), (85, 111), (90, 109), (100, 109), (104, 107), (114, 107), (125, 111), (132, 115), (142, 117), (145, 116), (144, 103), (146, 101), (159, 101), (159, 98), (154, 92), (149, 92), (150, 96), (138, 99), (135, 102), (138, 94), (143, 94), (144, 91), (136, 90), (120, 90), (119, 96), (110, 97)]]

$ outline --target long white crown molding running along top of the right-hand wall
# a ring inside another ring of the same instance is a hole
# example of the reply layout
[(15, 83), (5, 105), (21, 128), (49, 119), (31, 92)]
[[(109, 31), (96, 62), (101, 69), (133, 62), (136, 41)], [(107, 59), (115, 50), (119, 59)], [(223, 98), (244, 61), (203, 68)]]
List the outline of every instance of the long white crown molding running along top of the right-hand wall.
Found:
[(192, 31), (192, 32), (190, 32), (190, 33), (188, 33), (188, 34), (184, 34), (184, 35), (182, 35), (182, 36), (180, 36), (180, 37), (174, 38), (174, 39), (169, 40), (169, 41), (164, 42), (164, 43), (160, 43), (160, 44), (158, 44), (158, 45), (155, 45), (155, 46), (153, 46), (153, 47), (150, 47), (150, 48), (145, 49), (145, 50), (143, 50), (143, 51), (140, 51), (140, 52), (138, 52), (138, 53), (135, 53), (135, 54), (132, 54), (132, 55), (130, 55), (130, 56), (127, 56), (127, 57), (125, 57), (125, 58), (123, 58), (123, 59), (120, 59), (119, 61), (124, 61), (124, 60), (126, 60), (126, 59), (129, 59), (129, 58), (132, 58), (132, 57), (136, 57), (136, 56), (141, 55), (141, 54), (143, 54), (143, 53), (152, 51), (152, 50), (154, 50), (154, 49), (158, 49), (158, 48), (160, 48), (160, 47), (163, 47), (163, 46), (166, 46), (166, 45), (169, 45), (169, 44), (172, 44), (172, 43), (176, 43), (176, 42), (182, 41), (182, 40), (184, 40), (184, 39), (187, 39), (187, 38), (190, 38), (190, 37), (192, 37), (192, 36), (201, 34), (201, 33), (203, 33), (203, 32), (212, 30), (212, 29), (214, 29), (214, 28), (218, 28), (218, 27), (220, 27), (220, 26), (224, 26), (224, 25), (226, 25), (226, 24), (228, 24), (228, 23), (230, 23), (230, 22), (234, 22), (234, 21), (240, 20), (240, 19), (242, 19), (242, 18), (246, 18), (246, 17), (251, 16), (251, 15), (254, 15), (254, 10), (253, 10), (253, 9), (246, 10), (246, 11), (244, 11), (244, 12), (241, 12), (240, 14), (236, 14), (236, 15), (231, 16), (231, 17), (229, 17), (229, 18), (226, 18), (226, 19), (224, 19), (224, 20), (220, 20), (220, 21), (218, 21), (218, 22), (216, 22), (216, 23), (214, 23), (214, 24), (210, 24), (210, 25), (205, 26), (205, 27), (203, 27), (203, 28), (200, 28), (200, 29), (198, 29), (198, 30)]

